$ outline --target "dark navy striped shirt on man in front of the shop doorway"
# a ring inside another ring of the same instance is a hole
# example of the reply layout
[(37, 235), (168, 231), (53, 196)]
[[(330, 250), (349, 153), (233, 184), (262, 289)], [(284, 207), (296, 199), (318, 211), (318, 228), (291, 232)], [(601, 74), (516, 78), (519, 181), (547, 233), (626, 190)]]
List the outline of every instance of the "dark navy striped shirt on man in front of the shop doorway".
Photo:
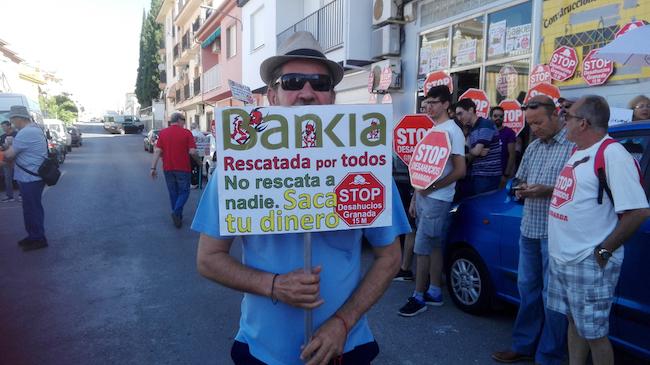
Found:
[(475, 157), (472, 161), (472, 176), (501, 176), (501, 140), (496, 125), (489, 119), (478, 118), (469, 132), (469, 146), (474, 148), (478, 143), (489, 148), (487, 155)]

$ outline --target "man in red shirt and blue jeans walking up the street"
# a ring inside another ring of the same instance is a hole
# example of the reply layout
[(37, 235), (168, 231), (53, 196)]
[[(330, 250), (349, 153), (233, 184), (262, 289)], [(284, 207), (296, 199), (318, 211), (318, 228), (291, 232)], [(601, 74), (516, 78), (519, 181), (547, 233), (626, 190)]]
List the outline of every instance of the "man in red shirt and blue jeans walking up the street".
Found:
[(192, 132), (184, 128), (185, 117), (173, 113), (170, 126), (160, 131), (151, 165), (151, 177), (156, 178), (158, 159), (162, 155), (165, 182), (172, 207), (172, 221), (176, 228), (183, 225), (183, 206), (190, 196), (190, 160), (196, 158), (196, 143)]

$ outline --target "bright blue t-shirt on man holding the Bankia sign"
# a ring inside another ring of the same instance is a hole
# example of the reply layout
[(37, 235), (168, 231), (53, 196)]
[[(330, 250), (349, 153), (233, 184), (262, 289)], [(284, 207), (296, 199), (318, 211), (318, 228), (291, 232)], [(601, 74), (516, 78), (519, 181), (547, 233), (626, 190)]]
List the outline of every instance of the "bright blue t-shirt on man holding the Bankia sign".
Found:
[[(390, 245), (395, 237), (411, 231), (395, 183), (392, 184), (393, 224), (390, 227), (312, 233), (312, 261), (321, 265), (320, 294), (314, 309), (314, 331), (350, 297), (361, 280), (361, 238), (372, 246)], [(192, 229), (214, 238), (219, 235), (217, 179), (211, 179), (201, 197)], [(261, 271), (284, 274), (302, 268), (303, 234), (242, 236), (242, 261)], [(245, 293), (241, 304), (237, 341), (247, 343), (251, 354), (269, 364), (302, 364), (304, 311), (270, 298)], [(344, 351), (373, 341), (366, 316), (350, 330)]]

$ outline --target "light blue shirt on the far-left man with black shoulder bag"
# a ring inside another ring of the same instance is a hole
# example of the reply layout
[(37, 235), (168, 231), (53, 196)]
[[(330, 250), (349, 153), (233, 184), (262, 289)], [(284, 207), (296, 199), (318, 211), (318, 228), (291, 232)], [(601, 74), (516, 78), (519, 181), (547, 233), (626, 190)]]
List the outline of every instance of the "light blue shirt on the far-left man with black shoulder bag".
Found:
[[(16, 164), (34, 173), (47, 158), (45, 134), (36, 123), (29, 123), (18, 131), (12, 147), (16, 152)], [(14, 179), (20, 182), (41, 180), (40, 176), (30, 175), (18, 166), (14, 169)]]

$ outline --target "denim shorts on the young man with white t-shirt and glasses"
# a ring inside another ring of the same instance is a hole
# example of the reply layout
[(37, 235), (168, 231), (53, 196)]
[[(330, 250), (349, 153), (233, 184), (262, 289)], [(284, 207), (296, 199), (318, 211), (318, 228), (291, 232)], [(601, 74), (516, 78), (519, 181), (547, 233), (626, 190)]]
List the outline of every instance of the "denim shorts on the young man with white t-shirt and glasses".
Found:
[(429, 255), (436, 247), (442, 247), (449, 229), (451, 202), (415, 195), (415, 247), (416, 255)]

